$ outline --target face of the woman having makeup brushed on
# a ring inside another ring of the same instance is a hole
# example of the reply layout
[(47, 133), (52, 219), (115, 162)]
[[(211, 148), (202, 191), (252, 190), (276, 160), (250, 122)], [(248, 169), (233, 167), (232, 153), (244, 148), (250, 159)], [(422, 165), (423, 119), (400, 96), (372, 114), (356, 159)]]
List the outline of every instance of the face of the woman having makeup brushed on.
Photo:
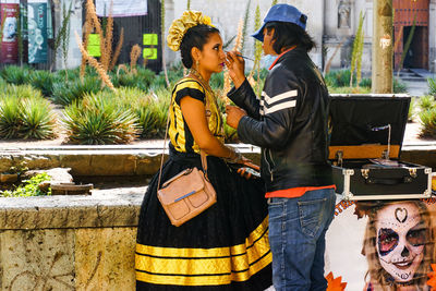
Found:
[(222, 50), (222, 39), (218, 33), (209, 35), (209, 40), (203, 46), (198, 59), (199, 69), (211, 73), (219, 73), (225, 66), (226, 53)]

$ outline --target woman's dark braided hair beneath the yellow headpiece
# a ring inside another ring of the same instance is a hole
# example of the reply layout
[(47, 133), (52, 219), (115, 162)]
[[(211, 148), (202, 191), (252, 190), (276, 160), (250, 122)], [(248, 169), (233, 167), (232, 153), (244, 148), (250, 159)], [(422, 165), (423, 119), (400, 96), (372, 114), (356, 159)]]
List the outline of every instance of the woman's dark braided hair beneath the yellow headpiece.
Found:
[(215, 33), (219, 34), (219, 31), (206, 24), (198, 24), (187, 29), (182, 38), (182, 43), (180, 43), (180, 53), (185, 68), (190, 69), (193, 64), (192, 48), (196, 47), (203, 50), (203, 46), (209, 40), (209, 36)]

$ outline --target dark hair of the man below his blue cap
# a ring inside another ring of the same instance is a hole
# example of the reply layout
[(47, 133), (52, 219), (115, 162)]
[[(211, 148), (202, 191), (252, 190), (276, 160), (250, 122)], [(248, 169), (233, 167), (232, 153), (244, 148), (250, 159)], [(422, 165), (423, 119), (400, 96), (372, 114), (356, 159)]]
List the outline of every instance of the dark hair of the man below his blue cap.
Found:
[[(306, 19), (300, 20), (305, 23)], [(282, 49), (289, 49), (292, 46), (304, 48), (306, 51), (312, 50), (316, 47), (315, 41), (312, 37), (299, 25), (289, 22), (268, 22), (265, 25), (265, 29), (269, 33), (274, 28), (274, 35), (271, 40), (276, 40), (272, 44), (272, 49), (280, 53)]]

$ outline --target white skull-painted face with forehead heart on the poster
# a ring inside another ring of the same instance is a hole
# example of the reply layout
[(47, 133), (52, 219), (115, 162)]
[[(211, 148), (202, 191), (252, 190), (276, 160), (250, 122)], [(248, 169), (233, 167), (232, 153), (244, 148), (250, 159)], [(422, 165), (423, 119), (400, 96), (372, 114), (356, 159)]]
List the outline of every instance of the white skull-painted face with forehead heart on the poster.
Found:
[(376, 246), (383, 268), (397, 282), (407, 282), (423, 260), (427, 242), (420, 209), (412, 203), (399, 203), (382, 208), (375, 223)]

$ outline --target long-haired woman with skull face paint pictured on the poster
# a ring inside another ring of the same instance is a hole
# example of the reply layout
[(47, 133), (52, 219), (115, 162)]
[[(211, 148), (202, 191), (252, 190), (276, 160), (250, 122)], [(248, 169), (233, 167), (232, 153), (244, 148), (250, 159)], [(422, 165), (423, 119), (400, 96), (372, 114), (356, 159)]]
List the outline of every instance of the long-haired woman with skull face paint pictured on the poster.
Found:
[(429, 290), (433, 223), (421, 201), (384, 203), (367, 210), (362, 253), (368, 262), (365, 291)]

